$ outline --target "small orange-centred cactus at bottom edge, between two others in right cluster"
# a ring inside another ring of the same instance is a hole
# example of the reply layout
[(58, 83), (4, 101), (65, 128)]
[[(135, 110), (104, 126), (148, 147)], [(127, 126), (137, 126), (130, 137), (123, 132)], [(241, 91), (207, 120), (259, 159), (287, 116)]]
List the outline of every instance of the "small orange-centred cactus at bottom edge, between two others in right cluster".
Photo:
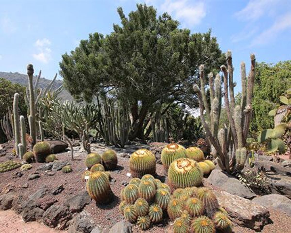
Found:
[(194, 233), (215, 233), (215, 226), (210, 218), (200, 216), (192, 221), (191, 230)]

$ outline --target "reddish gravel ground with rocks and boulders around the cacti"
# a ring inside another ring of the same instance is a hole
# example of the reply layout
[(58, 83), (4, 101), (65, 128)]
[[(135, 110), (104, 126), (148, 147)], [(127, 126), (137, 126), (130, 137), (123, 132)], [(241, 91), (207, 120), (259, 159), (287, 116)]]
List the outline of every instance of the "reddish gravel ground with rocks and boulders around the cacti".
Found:
[[(117, 228), (124, 228), (126, 230), (124, 232), (130, 232), (130, 228), (132, 232), (143, 232), (138, 227), (122, 221), (123, 216), (118, 210), (119, 194), (131, 179), (126, 175), (129, 172), (130, 153), (139, 148), (152, 149), (159, 162), (159, 153), (163, 145), (132, 143), (126, 149), (113, 148), (118, 153), (118, 167), (110, 171), (111, 189), (115, 197), (108, 205), (97, 206), (87, 195), (86, 184), (81, 181), (81, 175), (86, 168), (84, 165), (86, 153), (76, 146), (74, 160), (70, 158), (70, 151), (65, 151), (58, 153), (58, 161), (53, 163), (33, 163), (32, 169), (28, 171), (20, 172), (18, 168), (1, 173), (0, 209), (13, 209), (25, 222), (39, 221), (59, 230), (68, 229), (69, 232), (113, 233), (117, 232)], [(15, 159), (10, 155), (12, 146), (12, 144), (2, 146), (0, 162)], [(92, 144), (91, 148), (97, 153), (108, 149), (103, 144)], [(291, 168), (288, 164), (283, 166), (266, 159), (261, 161), (263, 162), (260, 162), (257, 168), (265, 169), (265, 172), (276, 176), (276, 179), (273, 179), (276, 182), (270, 184), (270, 187), (272, 186), (270, 195), (278, 196), (259, 197), (238, 179), (227, 176), (219, 170), (213, 170), (203, 183), (214, 189), (220, 205), (229, 212), (235, 224), (234, 232), (291, 232), (289, 226), (291, 188), (288, 186), (291, 184), (289, 183)], [(61, 168), (68, 163), (72, 165), (73, 172), (64, 174)], [(157, 164), (157, 178), (164, 182), (166, 177), (163, 174), (162, 165)], [(284, 209), (282, 206), (287, 207)], [(162, 223), (145, 232), (162, 233), (171, 232), (170, 230), (171, 222), (164, 219)]]

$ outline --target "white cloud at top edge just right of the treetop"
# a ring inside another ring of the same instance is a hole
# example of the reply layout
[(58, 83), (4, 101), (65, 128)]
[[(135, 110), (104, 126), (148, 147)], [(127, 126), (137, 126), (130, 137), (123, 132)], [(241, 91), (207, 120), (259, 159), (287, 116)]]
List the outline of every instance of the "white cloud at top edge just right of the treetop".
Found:
[(199, 24), (206, 15), (202, 1), (191, 4), (188, 0), (166, 0), (161, 9), (173, 14), (174, 18), (184, 21), (188, 26)]

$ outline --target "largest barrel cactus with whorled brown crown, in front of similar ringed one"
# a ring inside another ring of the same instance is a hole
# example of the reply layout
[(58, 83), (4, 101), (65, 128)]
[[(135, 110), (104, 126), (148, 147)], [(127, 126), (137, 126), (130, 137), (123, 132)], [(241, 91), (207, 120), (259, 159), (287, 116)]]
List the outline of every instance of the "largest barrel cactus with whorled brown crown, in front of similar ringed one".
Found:
[(173, 188), (200, 186), (203, 173), (198, 163), (189, 158), (179, 158), (168, 170), (169, 184)]

